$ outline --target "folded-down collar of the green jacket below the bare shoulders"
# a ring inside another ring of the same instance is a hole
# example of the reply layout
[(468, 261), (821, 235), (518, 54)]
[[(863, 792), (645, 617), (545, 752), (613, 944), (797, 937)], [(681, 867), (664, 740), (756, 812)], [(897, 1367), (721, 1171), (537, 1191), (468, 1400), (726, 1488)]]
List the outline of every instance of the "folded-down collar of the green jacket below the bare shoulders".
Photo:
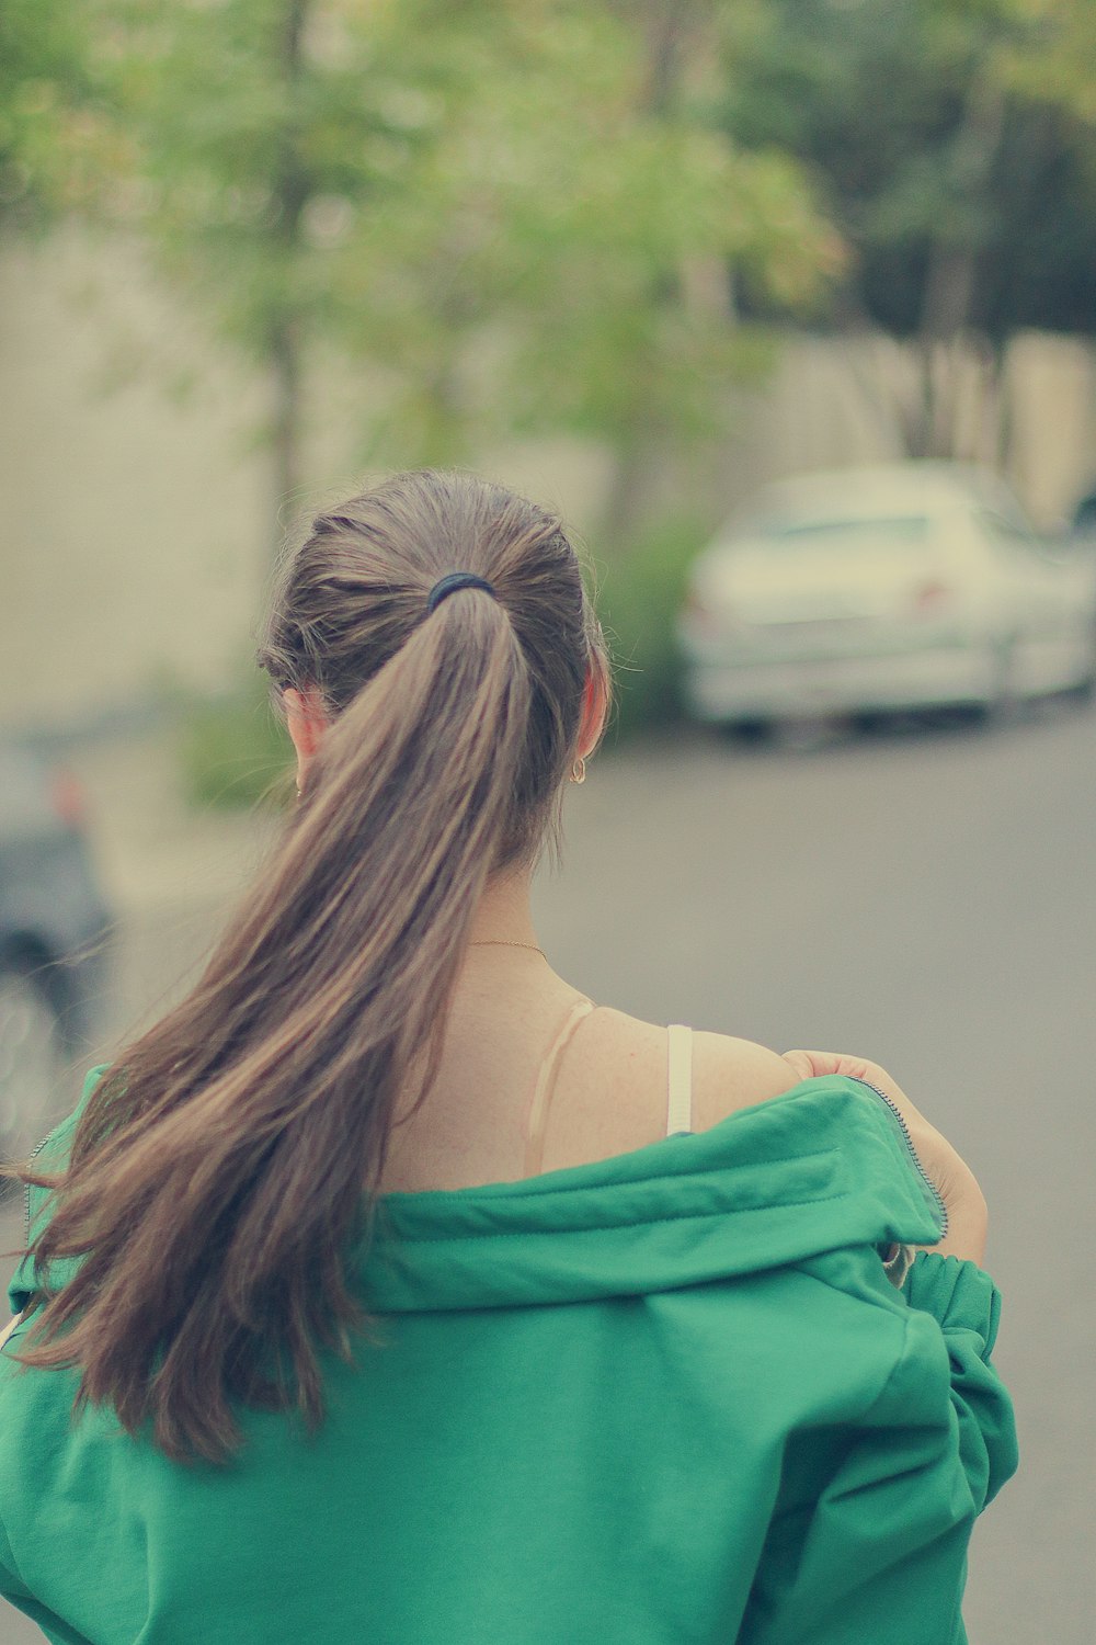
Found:
[[(43, 1168), (62, 1168), (81, 1109), (43, 1145)], [(31, 1189), (28, 1204), (36, 1230), (48, 1191)], [(596, 1165), (386, 1194), (350, 1268), (370, 1309), (424, 1313), (639, 1296), (940, 1235), (940, 1202), (892, 1109), (859, 1081), (825, 1077)], [(51, 1281), (72, 1267), (54, 1263)], [(13, 1309), (31, 1291), (25, 1258)]]

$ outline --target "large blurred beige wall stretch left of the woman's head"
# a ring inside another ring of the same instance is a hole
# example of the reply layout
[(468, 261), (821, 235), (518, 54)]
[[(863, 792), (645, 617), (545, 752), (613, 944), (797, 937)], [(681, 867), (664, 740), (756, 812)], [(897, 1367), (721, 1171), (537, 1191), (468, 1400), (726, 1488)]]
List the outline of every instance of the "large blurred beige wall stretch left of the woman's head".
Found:
[[(133, 373), (136, 360), (153, 368)], [(0, 258), (0, 694), (54, 719), (223, 673), (260, 551), (258, 398), (136, 257)], [(174, 398), (173, 398), (174, 395)]]

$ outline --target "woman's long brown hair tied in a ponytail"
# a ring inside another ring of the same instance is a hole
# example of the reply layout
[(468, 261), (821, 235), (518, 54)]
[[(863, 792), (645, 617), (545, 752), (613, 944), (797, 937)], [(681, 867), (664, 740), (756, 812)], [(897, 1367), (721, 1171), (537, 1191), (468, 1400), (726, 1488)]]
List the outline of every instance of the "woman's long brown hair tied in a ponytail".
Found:
[[(427, 612), (454, 571), (460, 589)], [(353, 1362), (398, 1097), (416, 1101), (488, 875), (557, 829), (583, 693), (608, 686), (550, 513), (465, 474), (401, 474), (320, 515), (260, 665), (330, 727), (301, 803), (187, 999), (125, 1046), (81, 1115), (31, 1244), (25, 1365), (81, 1369), (173, 1459), (227, 1461), (230, 1408), (324, 1418), (317, 1344)], [(53, 1258), (81, 1257), (49, 1291)]]

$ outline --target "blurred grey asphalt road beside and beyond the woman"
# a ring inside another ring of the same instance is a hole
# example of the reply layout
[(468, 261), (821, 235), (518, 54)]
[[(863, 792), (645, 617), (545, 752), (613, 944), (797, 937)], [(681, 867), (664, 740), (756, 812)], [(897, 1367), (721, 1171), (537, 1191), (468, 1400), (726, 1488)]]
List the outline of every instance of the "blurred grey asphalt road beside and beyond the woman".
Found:
[[(976, 1168), (1022, 1471), (974, 1536), (971, 1645), (1096, 1637), (1094, 847), (1096, 714), (1047, 706), (991, 734), (605, 753), (537, 887), (541, 938), (593, 999), (869, 1054)], [(217, 913), (127, 913), (117, 1026)], [(39, 1637), (0, 1615), (0, 1645)]]

